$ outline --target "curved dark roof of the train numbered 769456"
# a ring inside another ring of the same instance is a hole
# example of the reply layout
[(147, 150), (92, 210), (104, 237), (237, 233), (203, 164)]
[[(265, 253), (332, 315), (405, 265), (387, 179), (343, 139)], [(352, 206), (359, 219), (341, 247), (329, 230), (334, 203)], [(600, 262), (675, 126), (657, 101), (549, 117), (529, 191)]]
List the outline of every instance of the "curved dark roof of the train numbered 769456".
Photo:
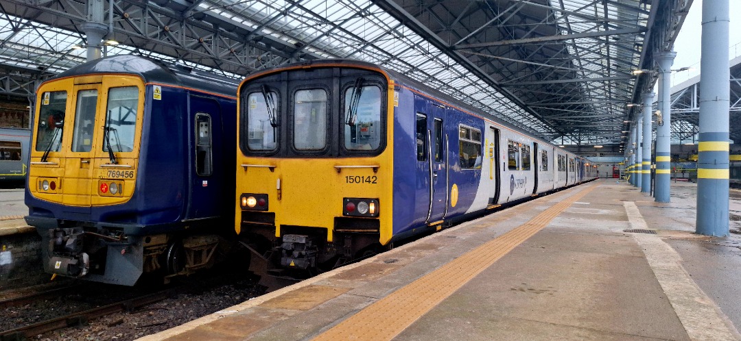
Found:
[(236, 86), (239, 84), (239, 81), (231, 78), (199, 72), (187, 67), (169, 66), (162, 61), (140, 55), (111, 55), (88, 61), (49, 80), (101, 73), (128, 73), (138, 75), (144, 79), (144, 83), (170, 84), (230, 97), (236, 96)]

